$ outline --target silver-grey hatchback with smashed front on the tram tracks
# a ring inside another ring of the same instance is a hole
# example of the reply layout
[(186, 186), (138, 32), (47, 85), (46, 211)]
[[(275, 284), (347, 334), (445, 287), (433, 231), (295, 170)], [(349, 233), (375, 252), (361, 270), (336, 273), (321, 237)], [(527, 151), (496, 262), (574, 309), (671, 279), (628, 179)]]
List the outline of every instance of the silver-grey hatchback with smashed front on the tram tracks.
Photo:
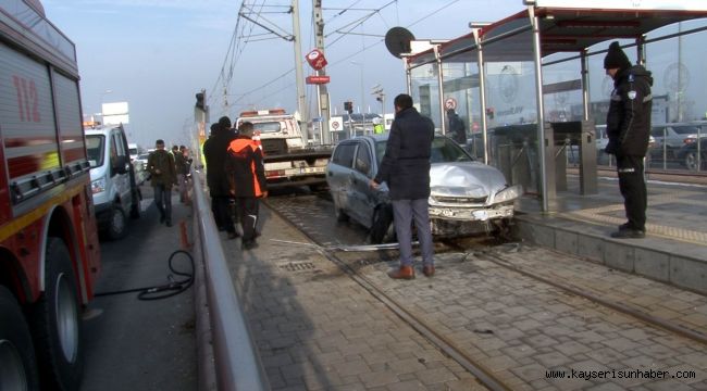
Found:
[[(371, 189), (387, 135), (339, 142), (326, 167), (326, 181), (338, 220), (352, 219), (370, 230), (372, 243), (395, 239), (385, 182)], [(513, 217), (520, 186), (509, 186), (497, 168), (473, 159), (445, 136), (435, 136), (430, 168), (430, 223), (437, 237), (487, 234)]]

